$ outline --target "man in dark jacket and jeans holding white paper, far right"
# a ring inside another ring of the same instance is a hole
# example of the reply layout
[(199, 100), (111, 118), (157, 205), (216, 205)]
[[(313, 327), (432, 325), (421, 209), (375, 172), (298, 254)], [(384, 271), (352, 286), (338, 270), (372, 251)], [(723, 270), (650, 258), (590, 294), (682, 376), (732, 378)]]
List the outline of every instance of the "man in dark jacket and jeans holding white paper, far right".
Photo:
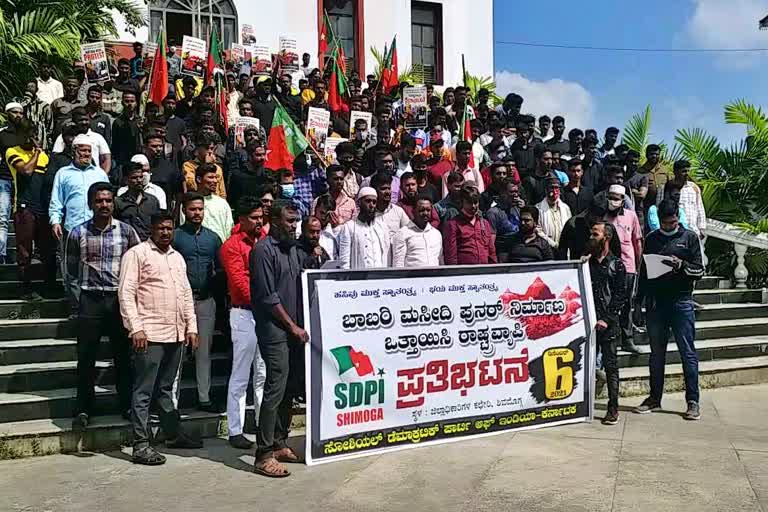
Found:
[(696, 318), (693, 287), (704, 275), (701, 244), (696, 233), (680, 226), (678, 205), (674, 201), (664, 200), (659, 204), (659, 221), (660, 228), (645, 239), (645, 253), (668, 256), (663, 262), (672, 268), (672, 272), (650, 279), (646, 265), (641, 270), (640, 290), (646, 298), (648, 337), (651, 342), (651, 394), (635, 412), (646, 414), (661, 409), (667, 334), (671, 328), (683, 364), (685, 400), (688, 403), (684, 417), (687, 420), (698, 420), (701, 412), (699, 359), (694, 346)]

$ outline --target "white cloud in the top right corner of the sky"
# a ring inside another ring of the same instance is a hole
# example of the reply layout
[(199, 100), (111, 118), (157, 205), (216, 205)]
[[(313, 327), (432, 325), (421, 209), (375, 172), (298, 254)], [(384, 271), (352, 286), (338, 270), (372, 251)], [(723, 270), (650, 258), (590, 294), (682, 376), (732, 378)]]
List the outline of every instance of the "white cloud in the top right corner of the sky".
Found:
[[(768, 14), (765, 0), (693, 0), (694, 10), (686, 33), (699, 48), (765, 48), (768, 34), (758, 30), (758, 21)], [(718, 54), (730, 67), (756, 64), (759, 53)]]

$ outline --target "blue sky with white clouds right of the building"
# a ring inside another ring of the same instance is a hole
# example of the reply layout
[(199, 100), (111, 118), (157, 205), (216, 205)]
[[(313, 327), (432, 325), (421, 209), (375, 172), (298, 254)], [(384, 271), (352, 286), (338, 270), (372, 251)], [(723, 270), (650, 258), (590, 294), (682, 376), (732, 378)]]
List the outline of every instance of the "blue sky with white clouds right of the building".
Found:
[[(743, 131), (723, 121), (737, 98), (763, 105), (765, 54), (620, 53), (534, 48), (501, 41), (644, 48), (768, 48), (757, 20), (768, 0), (495, 0), (495, 68), (500, 94), (516, 91), (523, 110), (562, 113), (570, 127), (623, 128), (646, 104), (654, 139), (701, 127), (721, 142)], [(529, 107), (529, 108), (526, 108)]]

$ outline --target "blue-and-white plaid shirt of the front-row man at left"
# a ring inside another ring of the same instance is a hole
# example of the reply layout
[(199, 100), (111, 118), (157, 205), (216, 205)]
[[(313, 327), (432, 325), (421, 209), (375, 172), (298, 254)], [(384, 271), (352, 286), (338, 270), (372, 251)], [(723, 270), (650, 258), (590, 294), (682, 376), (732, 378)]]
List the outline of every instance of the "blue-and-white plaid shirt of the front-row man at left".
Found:
[(136, 231), (117, 219), (99, 231), (93, 219), (69, 232), (65, 264), (67, 275), (82, 290), (115, 292), (120, 283), (120, 261), (140, 242)]

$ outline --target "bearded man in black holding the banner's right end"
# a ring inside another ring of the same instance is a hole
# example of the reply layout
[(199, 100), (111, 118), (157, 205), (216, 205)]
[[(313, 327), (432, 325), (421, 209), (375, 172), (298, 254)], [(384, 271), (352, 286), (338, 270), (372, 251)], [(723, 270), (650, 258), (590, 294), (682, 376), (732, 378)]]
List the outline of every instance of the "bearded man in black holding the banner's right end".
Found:
[(619, 363), (616, 357), (621, 341), (619, 317), (629, 301), (626, 288), (626, 269), (617, 255), (611, 252), (611, 241), (616, 236), (613, 226), (600, 221), (592, 226), (584, 260), (589, 261), (592, 294), (595, 301), (597, 345), (603, 356), (608, 383), (608, 411), (603, 425), (619, 422)]

